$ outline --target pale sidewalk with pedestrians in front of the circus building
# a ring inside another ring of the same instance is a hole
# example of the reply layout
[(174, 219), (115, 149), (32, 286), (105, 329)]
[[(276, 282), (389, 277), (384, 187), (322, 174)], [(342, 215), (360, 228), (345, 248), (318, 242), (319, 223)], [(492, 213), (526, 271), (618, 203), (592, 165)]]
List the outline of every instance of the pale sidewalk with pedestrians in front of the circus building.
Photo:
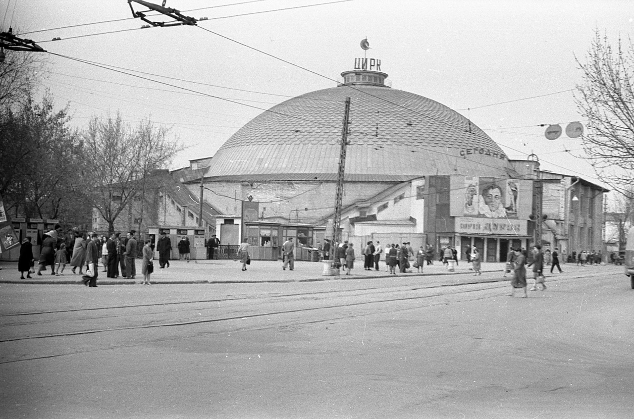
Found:
[[(221, 261), (170, 261), (170, 268), (160, 269), (159, 261), (154, 261), (155, 272), (152, 273), (152, 283), (160, 284), (213, 284), (213, 283), (266, 283), (266, 282), (306, 282), (306, 281), (332, 281), (332, 280), (361, 280), (372, 278), (398, 278), (399, 276), (441, 276), (456, 274), (472, 274), (470, 264), (466, 261), (458, 262), (455, 271), (447, 271), (447, 267), (442, 262), (434, 262), (433, 265), (425, 266), (423, 273), (417, 273), (417, 269), (411, 268), (411, 273), (397, 273), (391, 275), (385, 268), (385, 262), (379, 262), (379, 271), (365, 271), (363, 264), (355, 264), (352, 275), (341, 276), (324, 276), (323, 262), (307, 262), (295, 261), (294, 271), (283, 271), (280, 261), (252, 261), (247, 266), (247, 271), (241, 271), (242, 264), (239, 261), (221, 260)], [(482, 275), (478, 276), (478, 280), (493, 280), (502, 278), (502, 269), (504, 263), (482, 262)], [(51, 275), (50, 269), (42, 272), (41, 276), (31, 274), (32, 278), (20, 280), (20, 272), (18, 272), (18, 262), (0, 262), (0, 283), (19, 283), (19, 284), (49, 284), (49, 285), (80, 285), (82, 284), (81, 275), (73, 274), (71, 267), (67, 266), (63, 276)], [(50, 268), (50, 267), (48, 267)], [(545, 274), (550, 275), (550, 266), (545, 267)], [(621, 268), (614, 265), (605, 266), (577, 266), (576, 264), (562, 264), (564, 273), (581, 273), (592, 272), (595, 269), (605, 268)], [(135, 279), (126, 278), (107, 278), (103, 272), (103, 266), (100, 266), (97, 285), (134, 285), (143, 281), (141, 271), (141, 260), (136, 262), (137, 275)], [(555, 272), (557, 272), (555, 270)], [(492, 274), (496, 273), (496, 274)], [(527, 269), (527, 277), (532, 278), (531, 268)], [(510, 275), (507, 274), (510, 280)], [(474, 278), (475, 281), (475, 278)]]

